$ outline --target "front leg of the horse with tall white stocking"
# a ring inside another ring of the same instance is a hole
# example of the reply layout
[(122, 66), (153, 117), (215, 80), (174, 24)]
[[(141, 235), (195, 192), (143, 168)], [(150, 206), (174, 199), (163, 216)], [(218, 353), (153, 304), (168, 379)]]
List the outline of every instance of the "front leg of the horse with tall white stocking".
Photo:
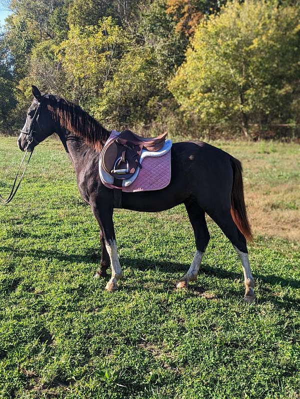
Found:
[(116, 249), (112, 221), (113, 208), (103, 205), (100, 207), (97, 205), (97, 203), (94, 203), (91, 205), (91, 209), (102, 231), (105, 248), (110, 260), (111, 278), (107, 282), (105, 289), (107, 291), (114, 291), (117, 289), (117, 282), (122, 274), (122, 271)]

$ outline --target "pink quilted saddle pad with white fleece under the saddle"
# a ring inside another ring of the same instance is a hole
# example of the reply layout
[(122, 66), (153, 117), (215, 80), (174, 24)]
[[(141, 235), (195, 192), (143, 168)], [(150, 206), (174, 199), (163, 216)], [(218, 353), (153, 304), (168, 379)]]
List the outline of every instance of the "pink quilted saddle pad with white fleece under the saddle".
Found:
[[(112, 131), (109, 141), (117, 136)], [(122, 181), (122, 187), (113, 186), (113, 178), (101, 166), (99, 158), (99, 175), (101, 182), (108, 188), (121, 189), (123, 192), (153, 191), (166, 187), (171, 179), (171, 140), (166, 140), (164, 146), (156, 152), (142, 150), (140, 163), (142, 168), (136, 168), (133, 176)]]

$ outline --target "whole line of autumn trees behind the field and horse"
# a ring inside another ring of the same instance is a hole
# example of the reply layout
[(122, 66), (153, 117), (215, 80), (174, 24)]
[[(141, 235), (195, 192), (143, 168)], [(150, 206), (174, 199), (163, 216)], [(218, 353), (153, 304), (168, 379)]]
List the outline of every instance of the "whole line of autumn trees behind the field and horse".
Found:
[[(1, 0), (0, 131), (24, 120), (31, 84), (107, 128), (295, 135), (297, 1)], [(284, 133), (284, 134), (285, 134)]]

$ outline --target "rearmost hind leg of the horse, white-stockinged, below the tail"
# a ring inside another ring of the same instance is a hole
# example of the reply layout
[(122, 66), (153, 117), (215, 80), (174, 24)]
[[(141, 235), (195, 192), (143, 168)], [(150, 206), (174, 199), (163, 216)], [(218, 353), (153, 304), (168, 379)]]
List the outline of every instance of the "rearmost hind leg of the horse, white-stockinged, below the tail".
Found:
[(231, 241), (235, 251), (238, 253), (239, 258), (242, 263), (242, 271), (244, 275), (245, 283), (245, 302), (254, 302), (254, 279), (252, 276), (246, 239), (244, 235), (239, 231), (234, 223), (230, 210), (225, 210), (223, 212), (215, 212), (215, 214), (210, 215), (215, 223), (221, 228), (226, 237)]

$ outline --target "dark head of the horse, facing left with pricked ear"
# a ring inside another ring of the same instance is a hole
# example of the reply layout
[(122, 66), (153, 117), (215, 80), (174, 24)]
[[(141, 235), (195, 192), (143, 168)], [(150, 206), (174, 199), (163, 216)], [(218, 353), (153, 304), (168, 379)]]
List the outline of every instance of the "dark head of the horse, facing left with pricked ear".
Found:
[(37, 87), (32, 86), (33, 101), (27, 110), (25, 125), (17, 140), (21, 151), (32, 151), (33, 148), (54, 132), (54, 124), (47, 109), (47, 99), (40, 94)]

